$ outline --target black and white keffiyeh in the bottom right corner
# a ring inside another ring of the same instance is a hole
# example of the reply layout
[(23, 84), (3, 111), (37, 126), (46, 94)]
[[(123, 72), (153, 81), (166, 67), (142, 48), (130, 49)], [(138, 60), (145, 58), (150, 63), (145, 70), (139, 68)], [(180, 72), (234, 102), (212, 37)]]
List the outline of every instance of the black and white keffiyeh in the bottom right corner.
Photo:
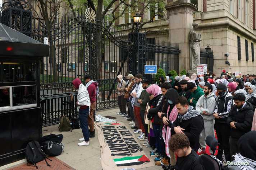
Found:
[[(241, 162), (243, 162), (243, 164), (245, 164), (245, 165), (241, 165)], [(235, 155), (234, 165), (242, 170), (255, 170), (256, 169), (256, 161), (249, 159), (247, 157), (244, 157), (241, 154)]]

